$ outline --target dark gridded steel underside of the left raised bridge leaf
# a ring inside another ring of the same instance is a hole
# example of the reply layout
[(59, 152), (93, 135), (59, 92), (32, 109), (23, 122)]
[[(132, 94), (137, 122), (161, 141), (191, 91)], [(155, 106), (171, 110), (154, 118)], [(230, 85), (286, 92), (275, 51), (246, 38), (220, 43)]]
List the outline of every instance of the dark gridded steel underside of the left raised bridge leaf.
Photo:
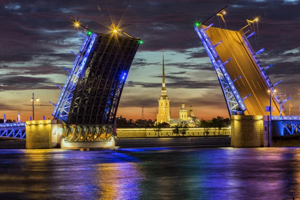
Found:
[(74, 91), (68, 124), (113, 124), (138, 44), (128, 37), (98, 36)]

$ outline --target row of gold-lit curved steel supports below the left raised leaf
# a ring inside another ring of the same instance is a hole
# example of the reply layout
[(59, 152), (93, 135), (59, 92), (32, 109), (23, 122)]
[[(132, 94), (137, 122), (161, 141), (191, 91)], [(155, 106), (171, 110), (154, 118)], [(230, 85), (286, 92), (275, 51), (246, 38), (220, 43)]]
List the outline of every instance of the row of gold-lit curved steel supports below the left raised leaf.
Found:
[(110, 140), (114, 134), (113, 124), (75, 125), (64, 124), (62, 137), (65, 141)]

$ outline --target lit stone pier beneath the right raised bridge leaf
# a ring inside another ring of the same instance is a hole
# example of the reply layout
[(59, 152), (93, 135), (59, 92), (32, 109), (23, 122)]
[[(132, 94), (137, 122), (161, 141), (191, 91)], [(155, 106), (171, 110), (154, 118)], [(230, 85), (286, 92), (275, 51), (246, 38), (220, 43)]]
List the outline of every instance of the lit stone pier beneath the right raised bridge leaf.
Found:
[[(231, 115), (231, 147), (264, 147), (268, 144), (267, 115)], [(269, 135), (272, 146), (272, 135)]]

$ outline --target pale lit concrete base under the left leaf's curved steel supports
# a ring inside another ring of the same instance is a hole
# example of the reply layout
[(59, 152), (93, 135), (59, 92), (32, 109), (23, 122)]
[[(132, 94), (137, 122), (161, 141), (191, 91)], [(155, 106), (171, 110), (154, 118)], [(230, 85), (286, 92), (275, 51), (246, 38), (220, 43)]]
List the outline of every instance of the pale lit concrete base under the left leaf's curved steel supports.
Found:
[(111, 137), (110, 140), (102, 141), (64, 141), (61, 138), (61, 148), (103, 148), (115, 146), (115, 138)]

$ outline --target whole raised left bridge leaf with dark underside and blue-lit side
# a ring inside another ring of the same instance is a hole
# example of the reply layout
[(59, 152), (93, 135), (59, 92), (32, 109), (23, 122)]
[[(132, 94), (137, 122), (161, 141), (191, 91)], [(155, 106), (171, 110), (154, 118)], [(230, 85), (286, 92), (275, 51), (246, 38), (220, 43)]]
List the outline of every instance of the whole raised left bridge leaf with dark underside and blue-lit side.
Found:
[(86, 37), (53, 110), (54, 118), (66, 124), (113, 124), (139, 43), (115, 34)]

